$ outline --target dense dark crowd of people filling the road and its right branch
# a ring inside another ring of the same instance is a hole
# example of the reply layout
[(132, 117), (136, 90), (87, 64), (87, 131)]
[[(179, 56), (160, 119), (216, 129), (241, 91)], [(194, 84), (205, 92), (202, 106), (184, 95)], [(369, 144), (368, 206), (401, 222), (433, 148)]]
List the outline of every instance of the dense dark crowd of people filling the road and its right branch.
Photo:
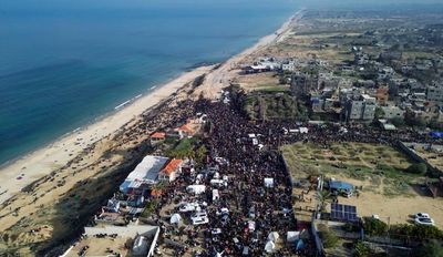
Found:
[[(209, 223), (186, 229), (185, 247), (175, 247), (177, 255), (185, 253), (187, 247), (190, 249), (198, 246), (202, 250), (194, 253), (197, 256), (261, 256), (270, 240), (269, 234), (276, 232), (286, 237), (288, 232), (298, 230), (292, 209), (296, 199), (292, 196), (291, 179), (279, 152), (279, 146), (284, 144), (303, 141), (329, 147), (334, 142), (389, 145), (399, 141), (441, 143), (437, 138), (413, 130), (388, 132), (364, 126), (295, 124), (284, 121), (253, 123), (243, 113), (241, 103), (234, 99), (220, 102), (199, 100), (195, 111), (205, 113), (208, 121), (203, 140), (208, 154), (203, 164), (204, 176), (200, 183), (214, 188), (210, 184), (214, 174), (207, 172), (213, 167), (217, 176), (227, 176), (228, 183), (227, 186), (217, 187), (220, 192), (217, 201), (214, 201), (210, 189), (197, 197), (200, 203), (209, 203), (204, 207)], [(288, 133), (288, 128), (295, 126), (308, 127), (308, 133)], [(270, 178), (272, 185), (266, 185), (265, 178)], [(194, 182), (195, 175), (186, 174), (169, 184), (158, 208), (189, 199), (186, 186)], [(223, 209), (227, 209), (228, 215), (220, 215)], [(174, 228), (166, 226), (165, 229)], [(308, 239), (301, 250), (296, 250), (295, 245), (279, 245), (272, 255), (312, 256), (313, 249)]]

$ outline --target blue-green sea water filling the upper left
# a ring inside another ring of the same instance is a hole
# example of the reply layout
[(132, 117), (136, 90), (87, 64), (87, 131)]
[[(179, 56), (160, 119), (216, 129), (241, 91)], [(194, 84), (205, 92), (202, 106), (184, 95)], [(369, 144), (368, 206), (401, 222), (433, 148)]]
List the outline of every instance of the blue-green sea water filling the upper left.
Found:
[(0, 164), (275, 31), (291, 0), (4, 0)]

